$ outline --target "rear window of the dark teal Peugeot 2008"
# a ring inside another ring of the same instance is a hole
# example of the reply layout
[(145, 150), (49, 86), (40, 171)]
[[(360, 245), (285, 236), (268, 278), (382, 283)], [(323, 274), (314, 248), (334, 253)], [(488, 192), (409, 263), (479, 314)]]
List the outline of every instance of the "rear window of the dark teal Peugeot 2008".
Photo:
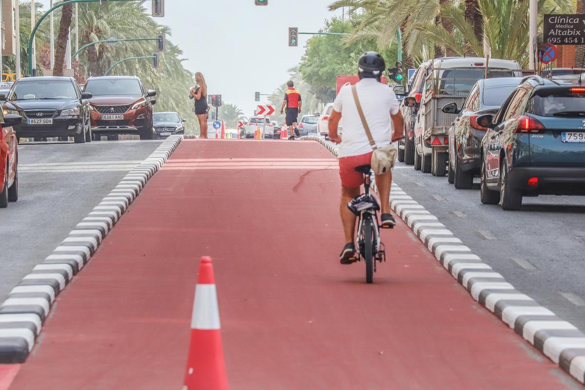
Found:
[(534, 95), (526, 112), (540, 116), (585, 118), (585, 95)]

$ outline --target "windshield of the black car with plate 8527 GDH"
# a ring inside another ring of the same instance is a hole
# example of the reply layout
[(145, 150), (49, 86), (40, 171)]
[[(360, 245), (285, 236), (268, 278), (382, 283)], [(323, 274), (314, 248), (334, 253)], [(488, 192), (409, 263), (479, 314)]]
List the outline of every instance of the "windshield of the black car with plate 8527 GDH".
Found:
[(17, 82), (8, 100), (67, 99), (76, 100), (77, 94), (71, 81), (23, 81)]

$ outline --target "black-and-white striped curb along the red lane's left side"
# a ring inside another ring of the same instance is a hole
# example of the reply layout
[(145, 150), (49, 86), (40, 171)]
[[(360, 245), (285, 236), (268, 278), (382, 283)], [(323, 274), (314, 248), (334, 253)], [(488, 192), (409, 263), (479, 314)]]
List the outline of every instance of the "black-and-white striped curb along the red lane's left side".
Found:
[(26, 360), (57, 295), (90, 261), (106, 234), (178, 144), (192, 138), (196, 137), (170, 136), (163, 141), (71, 230), (53, 253), (12, 289), (0, 305), (0, 363)]

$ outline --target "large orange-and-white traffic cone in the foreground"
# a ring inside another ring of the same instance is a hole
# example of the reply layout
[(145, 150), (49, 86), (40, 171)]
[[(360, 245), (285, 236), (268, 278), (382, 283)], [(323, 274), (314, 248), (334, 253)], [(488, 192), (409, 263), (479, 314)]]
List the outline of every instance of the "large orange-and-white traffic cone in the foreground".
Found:
[(183, 390), (227, 390), (218, 298), (211, 257), (201, 257), (191, 319), (191, 341)]

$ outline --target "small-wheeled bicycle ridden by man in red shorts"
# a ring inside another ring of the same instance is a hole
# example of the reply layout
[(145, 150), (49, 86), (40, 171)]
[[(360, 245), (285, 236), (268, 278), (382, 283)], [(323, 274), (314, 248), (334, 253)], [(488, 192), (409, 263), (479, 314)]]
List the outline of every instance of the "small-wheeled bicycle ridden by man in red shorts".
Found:
[[(366, 263), (366, 283), (373, 282), (376, 264), (382, 261), (386, 262), (386, 250), (384, 244), (380, 242), (380, 226), (378, 226), (378, 211), (380, 203), (370, 194), (371, 176), (373, 171), (370, 165), (361, 165), (355, 168), (356, 171), (363, 174), (364, 177), (364, 194), (356, 196), (351, 202), (347, 203), (355, 215), (359, 217), (357, 224), (357, 257), (352, 261), (362, 261)], [(390, 227), (390, 226), (388, 226)]]

